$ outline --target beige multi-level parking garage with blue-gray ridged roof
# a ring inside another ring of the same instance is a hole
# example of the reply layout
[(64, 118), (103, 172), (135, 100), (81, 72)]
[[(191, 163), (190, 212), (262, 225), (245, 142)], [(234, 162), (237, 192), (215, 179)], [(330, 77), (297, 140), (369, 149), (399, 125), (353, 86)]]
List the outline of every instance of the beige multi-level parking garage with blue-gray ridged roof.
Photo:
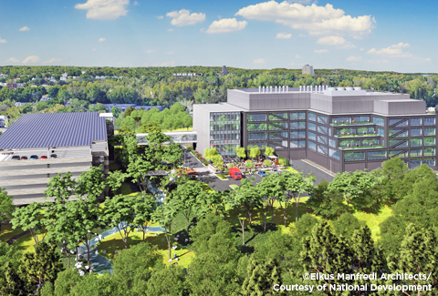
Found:
[[(108, 173), (112, 118), (97, 112), (25, 114), (0, 136), (0, 187), (16, 205), (43, 199), (57, 173)], [(107, 125), (109, 126), (107, 128)]]

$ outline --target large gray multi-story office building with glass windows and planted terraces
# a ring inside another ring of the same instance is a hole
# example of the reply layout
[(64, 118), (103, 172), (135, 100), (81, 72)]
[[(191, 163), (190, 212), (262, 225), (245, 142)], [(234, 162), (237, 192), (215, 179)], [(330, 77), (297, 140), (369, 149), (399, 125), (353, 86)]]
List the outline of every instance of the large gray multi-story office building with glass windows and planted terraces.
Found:
[(333, 172), (379, 168), (398, 156), (436, 169), (436, 115), (407, 94), (360, 87), (229, 89), (227, 103), (193, 105), (197, 150), (266, 146)]

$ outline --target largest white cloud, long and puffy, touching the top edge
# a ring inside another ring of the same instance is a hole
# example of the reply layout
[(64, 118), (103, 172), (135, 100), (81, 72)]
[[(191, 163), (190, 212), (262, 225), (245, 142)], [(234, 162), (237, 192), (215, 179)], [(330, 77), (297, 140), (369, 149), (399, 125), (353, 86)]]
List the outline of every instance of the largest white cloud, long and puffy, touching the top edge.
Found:
[[(303, 3), (309, 3), (309, 1)], [(313, 35), (348, 33), (351, 36), (360, 37), (370, 34), (375, 26), (375, 20), (371, 15), (352, 17), (345, 15), (342, 9), (335, 9), (329, 4), (325, 6), (302, 5), (291, 4), (287, 1), (277, 3), (271, 0), (241, 8), (235, 15), (242, 15), (247, 19), (276, 22), (293, 29), (306, 30)]]

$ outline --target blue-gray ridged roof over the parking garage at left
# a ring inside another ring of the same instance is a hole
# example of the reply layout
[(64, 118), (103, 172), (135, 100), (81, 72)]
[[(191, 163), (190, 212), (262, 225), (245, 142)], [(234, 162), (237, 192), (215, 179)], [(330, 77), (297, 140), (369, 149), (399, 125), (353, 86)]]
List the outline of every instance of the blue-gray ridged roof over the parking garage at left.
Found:
[(0, 149), (90, 146), (106, 139), (98, 112), (25, 114), (0, 136)]

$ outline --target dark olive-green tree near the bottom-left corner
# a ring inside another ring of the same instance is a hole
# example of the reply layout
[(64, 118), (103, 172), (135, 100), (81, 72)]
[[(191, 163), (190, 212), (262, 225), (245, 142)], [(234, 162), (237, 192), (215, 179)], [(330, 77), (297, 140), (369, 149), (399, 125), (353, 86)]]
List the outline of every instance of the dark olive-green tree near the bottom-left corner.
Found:
[(36, 246), (35, 253), (24, 254), (23, 264), (20, 265), (19, 270), (38, 285), (38, 290), (46, 282), (53, 283), (57, 280), (57, 274), (63, 270), (56, 244), (42, 241)]

